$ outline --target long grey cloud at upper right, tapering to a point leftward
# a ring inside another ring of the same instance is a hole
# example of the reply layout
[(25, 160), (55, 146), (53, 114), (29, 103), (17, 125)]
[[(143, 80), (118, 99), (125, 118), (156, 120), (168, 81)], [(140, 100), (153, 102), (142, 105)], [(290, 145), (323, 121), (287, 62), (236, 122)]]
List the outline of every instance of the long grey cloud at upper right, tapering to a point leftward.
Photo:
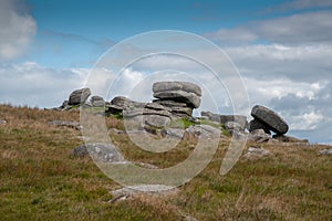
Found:
[(269, 41), (276, 43), (331, 42), (332, 11), (298, 13), (278, 19), (249, 22), (234, 29), (221, 29), (205, 34), (207, 38), (224, 42)]

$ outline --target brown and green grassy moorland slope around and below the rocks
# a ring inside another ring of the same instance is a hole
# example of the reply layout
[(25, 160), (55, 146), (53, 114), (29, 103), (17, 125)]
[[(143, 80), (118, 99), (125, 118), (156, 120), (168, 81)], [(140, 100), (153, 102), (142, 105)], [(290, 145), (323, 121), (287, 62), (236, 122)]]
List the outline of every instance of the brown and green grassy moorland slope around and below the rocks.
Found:
[[(0, 220), (332, 220), (332, 157), (326, 146), (263, 144), (272, 155), (241, 158), (219, 176), (228, 141), (209, 166), (179, 191), (111, 202), (120, 185), (89, 158), (72, 158), (81, 131), (54, 127), (49, 120), (77, 120), (77, 112), (0, 106)], [(123, 128), (121, 119), (107, 126)], [(135, 148), (124, 134), (113, 135), (124, 155), (167, 167), (181, 161), (195, 140), (165, 154)], [(252, 144), (247, 144), (249, 147)]]

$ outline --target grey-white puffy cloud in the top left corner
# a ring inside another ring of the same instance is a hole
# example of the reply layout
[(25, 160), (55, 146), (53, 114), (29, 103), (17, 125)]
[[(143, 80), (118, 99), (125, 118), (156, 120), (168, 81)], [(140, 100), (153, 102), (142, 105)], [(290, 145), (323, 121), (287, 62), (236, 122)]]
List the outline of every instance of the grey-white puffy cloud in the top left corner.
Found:
[(37, 23), (22, 0), (0, 1), (0, 61), (21, 55), (35, 34)]

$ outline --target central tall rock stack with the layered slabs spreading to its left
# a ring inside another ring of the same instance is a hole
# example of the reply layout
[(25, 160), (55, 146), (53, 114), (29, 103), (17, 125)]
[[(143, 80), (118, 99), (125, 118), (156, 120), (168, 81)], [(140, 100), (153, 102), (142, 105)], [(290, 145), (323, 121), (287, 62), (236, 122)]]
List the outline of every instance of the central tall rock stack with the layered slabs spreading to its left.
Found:
[(156, 82), (153, 103), (138, 103), (123, 96), (114, 97), (106, 113), (122, 114), (153, 127), (165, 127), (177, 117), (191, 117), (200, 105), (201, 90), (189, 82)]

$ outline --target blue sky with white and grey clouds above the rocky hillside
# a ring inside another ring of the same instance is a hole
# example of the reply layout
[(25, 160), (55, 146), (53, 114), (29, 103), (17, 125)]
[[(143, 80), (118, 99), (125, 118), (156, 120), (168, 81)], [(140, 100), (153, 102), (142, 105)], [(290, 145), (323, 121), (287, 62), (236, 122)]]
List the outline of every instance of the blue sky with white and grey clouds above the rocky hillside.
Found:
[[(131, 42), (133, 36), (158, 30), (193, 33), (219, 46), (240, 74), (249, 107), (274, 109), (289, 123), (289, 135), (332, 144), (330, 0), (0, 0), (0, 103), (60, 106), (94, 72), (101, 73), (97, 94), (116, 80), (110, 63), (101, 66), (102, 57), (124, 42), (132, 46), (125, 52), (139, 54), (144, 46)], [(196, 53), (220, 64), (214, 49), (196, 48)], [(203, 86), (198, 115), (231, 113), (227, 92), (237, 86), (227, 91), (207, 70), (178, 56), (156, 55), (126, 66), (105, 98), (152, 98), (151, 84), (173, 80), (174, 73)], [(250, 108), (239, 106), (236, 114), (250, 117)]]

